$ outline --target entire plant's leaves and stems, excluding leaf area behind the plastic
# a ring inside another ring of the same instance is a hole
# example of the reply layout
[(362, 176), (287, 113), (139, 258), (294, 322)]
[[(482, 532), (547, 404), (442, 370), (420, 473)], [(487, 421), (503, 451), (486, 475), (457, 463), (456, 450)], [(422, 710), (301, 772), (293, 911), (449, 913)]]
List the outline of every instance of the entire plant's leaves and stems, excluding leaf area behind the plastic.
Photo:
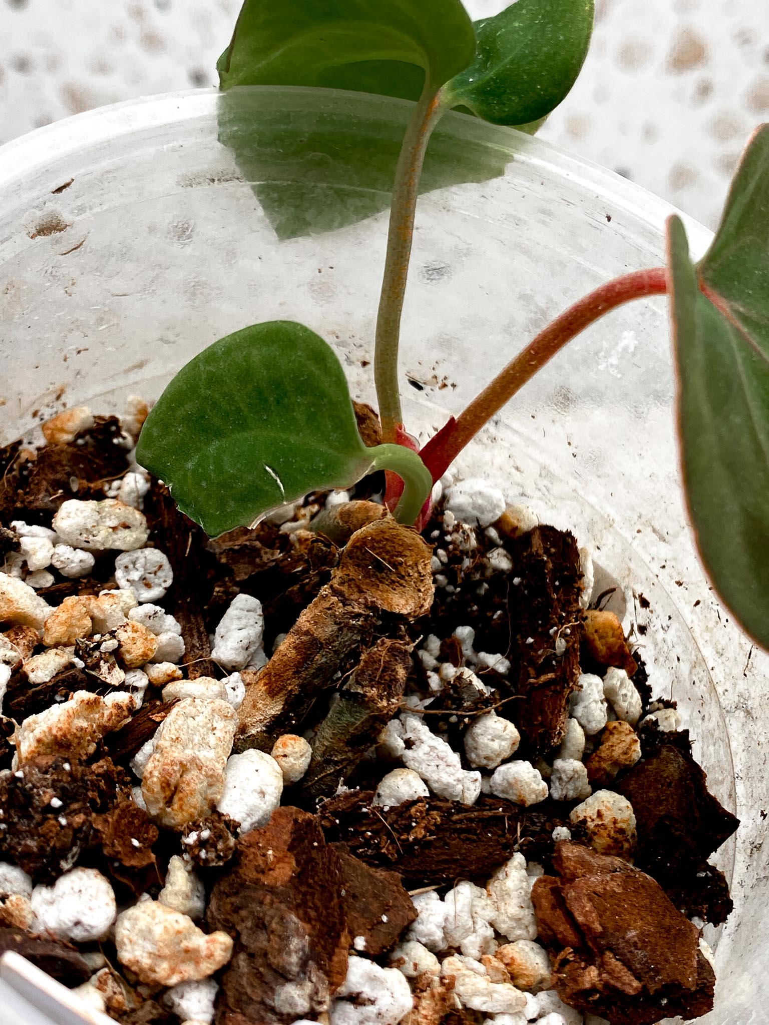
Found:
[(518, 0), (475, 26), (458, 0), (246, 0), (219, 61), (222, 88), (334, 86), (415, 100), (394, 174), (375, 332), (385, 444), (361, 441), (330, 346), (277, 322), (229, 335), (188, 364), (150, 414), (137, 458), (209, 534), (376, 468), (392, 471), (390, 507), (418, 525), (433, 482), (569, 340), (621, 303), (670, 293), (683, 481), (699, 550), (724, 603), (769, 646), (769, 126), (748, 145), (697, 264), (671, 218), (666, 269), (634, 272), (578, 300), (421, 452), (407, 441), (398, 343), (431, 132), (455, 107), (501, 124), (547, 116), (579, 70), (592, 17), (585, 0)]

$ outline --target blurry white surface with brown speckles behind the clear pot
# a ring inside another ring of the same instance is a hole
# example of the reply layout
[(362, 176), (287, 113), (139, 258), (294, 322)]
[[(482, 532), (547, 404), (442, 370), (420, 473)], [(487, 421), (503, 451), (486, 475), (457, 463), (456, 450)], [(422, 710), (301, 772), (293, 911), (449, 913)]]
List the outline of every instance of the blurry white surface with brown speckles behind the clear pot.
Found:
[[(0, 0), (0, 142), (103, 104), (214, 84), (239, 6)], [(467, 6), (479, 17), (505, 2)], [(713, 227), (752, 127), (768, 119), (767, 0), (597, 0), (582, 74), (540, 134)]]

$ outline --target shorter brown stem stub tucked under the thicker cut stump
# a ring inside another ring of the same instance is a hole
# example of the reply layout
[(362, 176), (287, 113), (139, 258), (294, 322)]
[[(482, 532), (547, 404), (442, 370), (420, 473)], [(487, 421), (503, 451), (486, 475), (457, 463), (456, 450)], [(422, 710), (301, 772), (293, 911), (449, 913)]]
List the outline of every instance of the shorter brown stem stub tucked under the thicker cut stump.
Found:
[(333, 793), (352, 775), (400, 708), (411, 661), (411, 645), (390, 638), (363, 652), (312, 742), (312, 761), (301, 782), (305, 793)]

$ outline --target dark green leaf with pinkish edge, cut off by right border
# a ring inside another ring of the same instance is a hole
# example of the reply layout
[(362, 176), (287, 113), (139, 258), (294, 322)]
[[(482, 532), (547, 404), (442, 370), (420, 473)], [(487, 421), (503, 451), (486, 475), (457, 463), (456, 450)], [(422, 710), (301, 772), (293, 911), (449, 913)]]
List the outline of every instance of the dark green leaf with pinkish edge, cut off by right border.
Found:
[(669, 221), (684, 486), (724, 604), (769, 647), (769, 126), (737, 169), (695, 268)]

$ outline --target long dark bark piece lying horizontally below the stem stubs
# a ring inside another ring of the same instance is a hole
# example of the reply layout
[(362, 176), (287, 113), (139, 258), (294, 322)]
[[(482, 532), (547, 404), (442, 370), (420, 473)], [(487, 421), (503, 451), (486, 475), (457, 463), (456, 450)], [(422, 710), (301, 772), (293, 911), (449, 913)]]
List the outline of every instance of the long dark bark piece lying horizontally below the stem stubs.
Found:
[(372, 790), (352, 791), (320, 806), (329, 840), (342, 840), (368, 865), (395, 868), (409, 888), (482, 878), (516, 851), (547, 858), (553, 830), (564, 825), (552, 802), (530, 808), (482, 795), (469, 807), (420, 798), (395, 808), (372, 807)]

